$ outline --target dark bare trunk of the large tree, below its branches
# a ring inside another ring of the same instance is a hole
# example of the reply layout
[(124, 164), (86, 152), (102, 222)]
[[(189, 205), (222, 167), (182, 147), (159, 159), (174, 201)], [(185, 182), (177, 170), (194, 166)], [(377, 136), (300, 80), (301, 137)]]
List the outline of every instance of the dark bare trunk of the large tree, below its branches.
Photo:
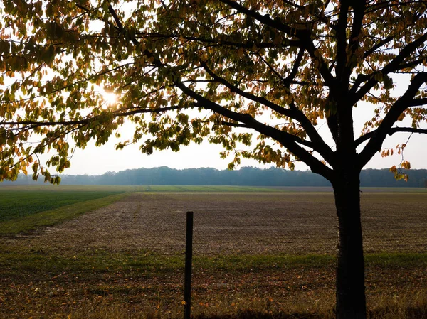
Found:
[(334, 180), (338, 216), (337, 319), (366, 319), (359, 172)]

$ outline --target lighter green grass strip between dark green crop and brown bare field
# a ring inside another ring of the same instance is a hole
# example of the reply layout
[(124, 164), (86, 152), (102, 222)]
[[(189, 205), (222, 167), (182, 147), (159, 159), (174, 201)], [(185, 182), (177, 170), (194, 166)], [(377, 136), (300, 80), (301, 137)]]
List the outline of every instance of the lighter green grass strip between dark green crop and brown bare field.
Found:
[(120, 193), (97, 198), (95, 200), (86, 200), (72, 205), (58, 207), (53, 210), (38, 212), (14, 220), (0, 222), (0, 234), (18, 234), (19, 232), (29, 232), (43, 226), (53, 226), (65, 220), (72, 220), (85, 212), (97, 210), (100, 207), (111, 205), (117, 200), (121, 200), (130, 193)]

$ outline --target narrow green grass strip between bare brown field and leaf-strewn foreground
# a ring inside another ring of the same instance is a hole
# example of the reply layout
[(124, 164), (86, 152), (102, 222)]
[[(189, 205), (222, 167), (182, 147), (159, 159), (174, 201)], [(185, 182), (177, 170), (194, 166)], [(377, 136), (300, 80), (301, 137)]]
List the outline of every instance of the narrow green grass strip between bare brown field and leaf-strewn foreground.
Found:
[[(243, 256), (196, 256), (194, 268), (205, 270), (265, 271), (271, 269), (319, 269), (334, 268), (332, 255), (243, 255)], [(427, 253), (378, 253), (367, 254), (367, 267), (384, 269), (411, 269), (427, 267)], [(184, 255), (162, 255), (153, 252), (105, 252), (91, 251), (73, 256), (49, 252), (43, 249), (26, 249), (0, 246), (1, 268), (21, 271), (52, 273), (56, 271), (148, 271), (164, 274), (182, 271)]]

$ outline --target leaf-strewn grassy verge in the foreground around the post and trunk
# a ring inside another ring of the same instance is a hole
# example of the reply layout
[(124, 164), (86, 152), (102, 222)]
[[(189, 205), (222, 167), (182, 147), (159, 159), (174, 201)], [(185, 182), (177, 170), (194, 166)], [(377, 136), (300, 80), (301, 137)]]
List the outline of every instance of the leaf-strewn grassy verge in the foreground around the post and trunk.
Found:
[[(426, 318), (426, 266), (368, 254), (369, 318)], [(183, 269), (183, 255), (0, 247), (0, 318), (182, 318)], [(196, 256), (193, 305), (199, 319), (332, 319), (334, 258)]]

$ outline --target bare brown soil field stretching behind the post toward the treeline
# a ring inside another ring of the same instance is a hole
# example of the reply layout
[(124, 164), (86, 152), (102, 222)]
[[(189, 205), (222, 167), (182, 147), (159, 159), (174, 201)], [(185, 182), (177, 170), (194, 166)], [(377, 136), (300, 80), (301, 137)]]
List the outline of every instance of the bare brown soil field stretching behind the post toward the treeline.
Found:
[[(115, 204), (5, 238), (61, 252), (150, 249), (184, 252), (186, 211), (194, 212), (195, 254), (334, 254), (330, 193), (135, 193)], [(427, 193), (364, 193), (366, 252), (426, 252)]]

